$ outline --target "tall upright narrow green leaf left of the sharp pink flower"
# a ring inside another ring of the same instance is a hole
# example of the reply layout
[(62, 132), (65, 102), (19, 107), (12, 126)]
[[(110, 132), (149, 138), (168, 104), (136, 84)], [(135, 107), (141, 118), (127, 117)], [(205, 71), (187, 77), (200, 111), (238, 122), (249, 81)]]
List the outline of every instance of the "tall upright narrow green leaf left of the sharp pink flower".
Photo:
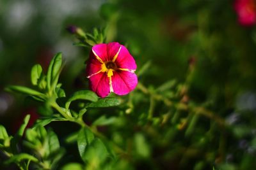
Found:
[[(50, 90), (52, 86), (56, 86), (58, 83), (58, 78), (60, 76), (60, 69), (62, 64), (62, 56), (61, 53), (57, 53), (48, 67), (47, 71), (47, 89)], [(54, 88), (53, 88), (54, 89)]]

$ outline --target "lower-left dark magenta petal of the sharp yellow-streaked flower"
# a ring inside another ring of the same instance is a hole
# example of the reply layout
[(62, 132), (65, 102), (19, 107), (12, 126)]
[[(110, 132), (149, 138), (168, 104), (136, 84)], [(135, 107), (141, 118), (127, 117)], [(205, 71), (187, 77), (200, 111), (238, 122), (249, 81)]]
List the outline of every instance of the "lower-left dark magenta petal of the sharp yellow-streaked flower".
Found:
[(95, 74), (89, 78), (90, 88), (100, 97), (108, 96), (110, 92), (109, 78), (106, 73)]

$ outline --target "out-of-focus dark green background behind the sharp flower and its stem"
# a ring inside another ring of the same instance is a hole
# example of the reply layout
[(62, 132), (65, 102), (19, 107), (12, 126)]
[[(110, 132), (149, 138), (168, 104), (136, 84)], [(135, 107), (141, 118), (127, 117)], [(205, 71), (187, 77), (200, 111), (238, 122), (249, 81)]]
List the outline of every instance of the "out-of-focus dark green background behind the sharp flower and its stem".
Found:
[[(77, 25), (93, 32), (98, 27), (107, 42), (127, 46), (140, 81), (134, 92), (122, 97), (120, 106), (88, 110), (84, 117), (106, 136), (104, 143), (118, 146), (114, 169), (255, 168), (256, 28), (238, 24), (234, 1), (0, 3), (0, 123), (8, 134), (24, 110), (39, 104), (22, 96), (13, 99), (4, 87), (30, 86), (31, 67), (40, 63), (47, 74), (54, 53), (62, 52), (66, 64), (61, 88), (67, 96), (88, 89), (84, 61), (90, 48), (72, 46), (77, 39), (65, 28)], [(40, 68), (34, 69), (40, 74)], [(47, 104), (40, 106), (38, 113), (47, 113), (46, 109)], [(74, 142), (62, 141), (77, 126), (50, 125), (60, 145), (67, 145), (59, 166), (70, 162), (64, 170), (84, 169), (83, 157), (74, 156), (79, 155)], [(6, 134), (2, 127), (1, 131)], [(105, 163), (100, 163), (101, 169), (114, 164)]]

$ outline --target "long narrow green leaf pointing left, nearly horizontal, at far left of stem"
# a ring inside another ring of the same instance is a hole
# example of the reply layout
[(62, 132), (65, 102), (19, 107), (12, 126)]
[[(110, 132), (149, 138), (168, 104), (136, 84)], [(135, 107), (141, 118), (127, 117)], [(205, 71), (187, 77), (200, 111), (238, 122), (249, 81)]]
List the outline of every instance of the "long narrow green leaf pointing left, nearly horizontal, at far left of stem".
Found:
[(19, 85), (10, 85), (8, 86), (6, 89), (6, 91), (8, 92), (19, 92), (22, 94), (27, 94), (27, 95), (31, 95), (31, 96), (36, 96), (40, 99), (45, 100), (46, 96), (36, 90), (33, 89), (29, 89), (28, 87), (23, 87), (23, 86), (19, 86)]

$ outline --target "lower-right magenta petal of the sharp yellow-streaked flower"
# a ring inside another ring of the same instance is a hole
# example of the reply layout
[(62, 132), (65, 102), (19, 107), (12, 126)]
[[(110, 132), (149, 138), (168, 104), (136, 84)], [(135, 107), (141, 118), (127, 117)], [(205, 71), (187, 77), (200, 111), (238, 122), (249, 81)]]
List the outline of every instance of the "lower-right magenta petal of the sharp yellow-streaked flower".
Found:
[(118, 95), (128, 94), (138, 84), (136, 74), (129, 71), (115, 71), (111, 79), (113, 91)]

